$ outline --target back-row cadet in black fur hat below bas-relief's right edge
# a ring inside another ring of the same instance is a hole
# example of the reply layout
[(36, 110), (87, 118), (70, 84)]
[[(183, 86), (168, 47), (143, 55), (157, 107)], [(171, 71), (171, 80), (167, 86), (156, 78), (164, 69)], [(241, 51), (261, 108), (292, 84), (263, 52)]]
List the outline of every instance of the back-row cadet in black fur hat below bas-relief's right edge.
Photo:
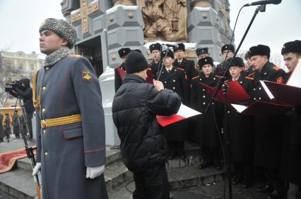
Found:
[(174, 49), (176, 60), (173, 65), (177, 68), (184, 69), (184, 71), (187, 75), (187, 83), (190, 86), (191, 79), (193, 77), (197, 76), (196, 69), (194, 68), (194, 61), (187, 60), (187, 58), (184, 58), (185, 45), (183, 43), (180, 43), (177, 45), (178, 45), (178, 48)]

